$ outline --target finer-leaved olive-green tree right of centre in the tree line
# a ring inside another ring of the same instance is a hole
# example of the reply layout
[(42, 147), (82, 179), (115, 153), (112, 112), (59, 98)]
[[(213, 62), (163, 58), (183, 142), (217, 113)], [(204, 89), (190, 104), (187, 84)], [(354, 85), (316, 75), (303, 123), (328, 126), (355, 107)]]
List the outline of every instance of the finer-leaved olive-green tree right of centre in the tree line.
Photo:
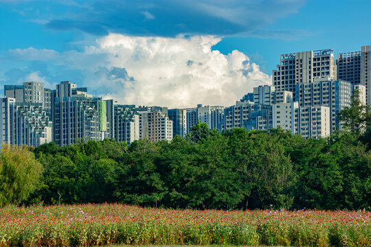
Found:
[(245, 209), (291, 207), (288, 191), (293, 183), (293, 165), (278, 135), (240, 128), (226, 133), (229, 158), (234, 160), (245, 181)]

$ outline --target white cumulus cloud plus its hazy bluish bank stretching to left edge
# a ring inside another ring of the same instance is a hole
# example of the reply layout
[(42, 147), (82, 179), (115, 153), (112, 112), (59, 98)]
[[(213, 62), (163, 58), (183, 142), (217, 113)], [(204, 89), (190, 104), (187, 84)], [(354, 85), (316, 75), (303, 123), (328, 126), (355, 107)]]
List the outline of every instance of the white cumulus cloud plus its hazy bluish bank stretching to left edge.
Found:
[[(212, 51), (219, 41), (214, 36), (109, 34), (81, 51), (27, 48), (10, 50), (5, 56), (8, 60), (39, 62), (33, 69), (18, 70), (21, 78), (55, 84), (57, 78), (71, 79), (71, 72), (74, 78), (80, 78), (81, 81), (73, 81), (78, 86), (88, 86), (95, 94), (109, 93), (123, 104), (230, 106), (254, 86), (270, 84), (269, 75), (242, 52), (235, 50), (224, 55)], [(76, 71), (80, 72), (77, 77)], [(8, 71), (3, 77), (3, 83), (19, 81), (16, 71)]]

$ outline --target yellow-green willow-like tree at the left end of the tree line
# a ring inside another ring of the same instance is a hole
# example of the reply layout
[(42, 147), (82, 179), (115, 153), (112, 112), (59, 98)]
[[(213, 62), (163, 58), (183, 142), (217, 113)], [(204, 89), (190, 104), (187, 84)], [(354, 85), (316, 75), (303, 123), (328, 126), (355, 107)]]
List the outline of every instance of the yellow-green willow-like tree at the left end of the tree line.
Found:
[(43, 166), (27, 147), (3, 145), (0, 154), (0, 206), (19, 204), (38, 187)]

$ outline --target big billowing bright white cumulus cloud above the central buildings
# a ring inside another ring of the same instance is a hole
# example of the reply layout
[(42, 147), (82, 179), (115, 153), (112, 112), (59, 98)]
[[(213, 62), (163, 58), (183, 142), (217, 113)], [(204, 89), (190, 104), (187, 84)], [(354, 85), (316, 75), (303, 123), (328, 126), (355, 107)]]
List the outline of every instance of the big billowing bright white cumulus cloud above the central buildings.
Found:
[(212, 51), (220, 38), (135, 37), (109, 34), (87, 47), (106, 54), (88, 77), (126, 104), (190, 107), (229, 106), (254, 86), (270, 84), (269, 75), (240, 51)]

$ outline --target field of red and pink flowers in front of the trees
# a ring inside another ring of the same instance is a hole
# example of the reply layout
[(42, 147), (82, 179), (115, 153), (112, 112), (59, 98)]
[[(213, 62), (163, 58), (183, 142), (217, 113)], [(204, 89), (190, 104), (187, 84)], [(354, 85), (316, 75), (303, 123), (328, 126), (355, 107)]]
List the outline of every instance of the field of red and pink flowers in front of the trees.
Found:
[(371, 246), (368, 211), (196, 211), (84, 204), (0, 209), (0, 246)]

